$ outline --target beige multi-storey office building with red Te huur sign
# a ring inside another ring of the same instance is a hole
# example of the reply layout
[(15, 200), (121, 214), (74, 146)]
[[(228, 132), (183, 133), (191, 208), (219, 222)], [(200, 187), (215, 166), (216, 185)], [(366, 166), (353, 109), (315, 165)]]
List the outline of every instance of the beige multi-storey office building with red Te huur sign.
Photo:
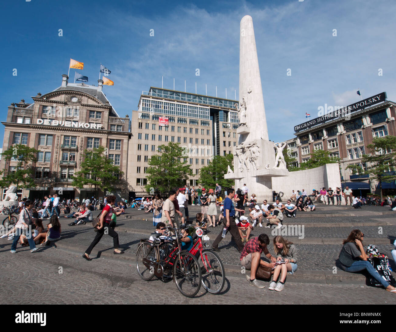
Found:
[(237, 145), (235, 103), (238, 101), (158, 87), (142, 91), (138, 110), (131, 117), (130, 190), (146, 191), (148, 159), (167, 142), (185, 147), (185, 162), (193, 171), (187, 185), (198, 186), (200, 169), (209, 165), (214, 155), (232, 154)]

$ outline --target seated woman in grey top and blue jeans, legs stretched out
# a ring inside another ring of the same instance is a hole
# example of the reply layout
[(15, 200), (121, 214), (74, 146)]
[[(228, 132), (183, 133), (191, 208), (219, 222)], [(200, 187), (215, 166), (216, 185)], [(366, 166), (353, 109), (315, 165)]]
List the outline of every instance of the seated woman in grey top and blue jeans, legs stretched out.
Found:
[(339, 261), (341, 268), (346, 272), (358, 272), (367, 270), (371, 276), (381, 283), (388, 292), (396, 293), (396, 288), (390, 285), (375, 268), (367, 261), (367, 255), (363, 248), (364, 234), (360, 230), (350, 232), (348, 238), (343, 241), (343, 249), (341, 249)]

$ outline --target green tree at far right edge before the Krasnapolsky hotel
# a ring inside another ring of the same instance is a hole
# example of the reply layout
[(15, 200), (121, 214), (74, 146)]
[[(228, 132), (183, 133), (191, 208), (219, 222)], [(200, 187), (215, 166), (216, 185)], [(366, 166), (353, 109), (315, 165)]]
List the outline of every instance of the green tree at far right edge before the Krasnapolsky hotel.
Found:
[(382, 200), (382, 182), (396, 180), (396, 137), (374, 138), (373, 144), (367, 145), (367, 150), (370, 154), (362, 156), (362, 163), (370, 163), (367, 171), (378, 181)]

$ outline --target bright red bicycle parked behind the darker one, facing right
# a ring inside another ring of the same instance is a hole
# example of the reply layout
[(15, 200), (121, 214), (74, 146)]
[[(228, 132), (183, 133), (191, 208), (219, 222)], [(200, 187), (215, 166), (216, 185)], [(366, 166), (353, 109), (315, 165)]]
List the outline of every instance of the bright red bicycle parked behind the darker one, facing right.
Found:
[(207, 243), (202, 243), (202, 236), (204, 235), (202, 228), (205, 225), (206, 223), (202, 224), (201, 226), (189, 224), (183, 227), (194, 227), (196, 229), (195, 234), (197, 235), (198, 240), (189, 252), (197, 258), (200, 264), (202, 273), (202, 286), (204, 286), (204, 288), (209, 293), (217, 294), (221, 292), (224, 287), (225, 270), (220, 257), (213, 250), (204, 249), (204, 247), (208, 246)]

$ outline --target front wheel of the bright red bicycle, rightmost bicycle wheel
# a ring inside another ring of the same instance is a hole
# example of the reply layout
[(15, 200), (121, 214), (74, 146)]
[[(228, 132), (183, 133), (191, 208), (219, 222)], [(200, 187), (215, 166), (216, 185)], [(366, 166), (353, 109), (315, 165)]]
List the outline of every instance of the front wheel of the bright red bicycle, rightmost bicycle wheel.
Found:
[[(202, 261), (202, 258), (204, 261)], [(198, 262), (202, 273), (202, 286), (212, 294), (221, 292), (225, 283), (225, 271), (220, 257), (212, 250), (203, 250)]]

